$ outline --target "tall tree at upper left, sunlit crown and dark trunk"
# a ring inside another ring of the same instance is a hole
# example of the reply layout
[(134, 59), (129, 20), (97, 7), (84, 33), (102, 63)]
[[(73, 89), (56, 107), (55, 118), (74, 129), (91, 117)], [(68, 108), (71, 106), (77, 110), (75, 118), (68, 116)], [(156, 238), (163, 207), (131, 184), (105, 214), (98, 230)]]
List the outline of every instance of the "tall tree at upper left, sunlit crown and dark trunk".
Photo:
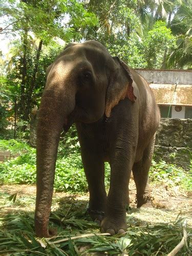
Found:
[[(84, 10), (76, 0), (20, 0), (4, 1), (2, 16), (9, 17), (1, 33), (20, 36), (19, 72), (20, 105), (23, 118), (29, 119), (32, 108), (32, 94), (36, 87), (39, 58), (42, 48), (59, 37), (65, 41), (80, 40), (85, 27), (95, 26), (97, 18)], [(33, 47), (32, 37), (38, 38), (38, 46)]]

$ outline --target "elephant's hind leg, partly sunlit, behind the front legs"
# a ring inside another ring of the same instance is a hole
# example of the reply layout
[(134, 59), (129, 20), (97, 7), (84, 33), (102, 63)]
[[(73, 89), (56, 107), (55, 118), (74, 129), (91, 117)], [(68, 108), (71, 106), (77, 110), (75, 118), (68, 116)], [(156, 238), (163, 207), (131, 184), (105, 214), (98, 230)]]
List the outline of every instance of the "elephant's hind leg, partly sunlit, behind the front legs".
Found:
[[(150, 185), (148, 184), (148, 172), (152, 163), (154, 152), (155, 136), (145, 148), (142, 159), (133, 165), (133, 177), (136, 184), (137, 207), (151, 202)], [(150, 203), (151, 205), (151, 203)]]

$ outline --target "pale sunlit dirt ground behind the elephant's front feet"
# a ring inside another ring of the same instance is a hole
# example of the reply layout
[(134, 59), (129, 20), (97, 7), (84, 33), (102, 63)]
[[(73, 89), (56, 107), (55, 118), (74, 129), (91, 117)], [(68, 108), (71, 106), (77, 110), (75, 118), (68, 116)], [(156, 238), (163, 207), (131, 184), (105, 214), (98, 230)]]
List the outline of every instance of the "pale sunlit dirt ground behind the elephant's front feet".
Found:
[[(1, 185), (0, 194), (13, 195), (17, 193), (17, 199), (23, 200), (23, 204), (19, 206), (14, 204), (4, 205), (0, 207), (0, 215), (2, 216), (13, 210), (34, 210), (35, 207), (35, 185)], [(153, 186), (152, 196), (154, 197), (153, 203), (155, 208), (141, 208), (136, 209), (135, 204), (135, 184), (133, 180), (130, 182), (130, 206), (132, 210), (135, 209), (134, 217), (139, 217), (141, 221), (150, 221), (151, 223), (165, 223), (173, 222), (177, 219), (178, 215), (186, 218), (188, 225), (192, 225), (192, 193), (186, 193), (181, 191), (179, 187), (167, 187)], [(54, 193), (52, 210), (57, 209), (58, 199), (66, 200), (70, 198), (68, 193)], [(29, 204), (27, 203), (27, 198), (30, 198)], [(1, 200), (3, 197), (1, 196)], [(57, 199), (57, 200), (54, 200)], [(89, 195), (73, 195), (73, 200), (76, 201), (89, 201)], [(129, 212), (127, 213), (129, 214)]]

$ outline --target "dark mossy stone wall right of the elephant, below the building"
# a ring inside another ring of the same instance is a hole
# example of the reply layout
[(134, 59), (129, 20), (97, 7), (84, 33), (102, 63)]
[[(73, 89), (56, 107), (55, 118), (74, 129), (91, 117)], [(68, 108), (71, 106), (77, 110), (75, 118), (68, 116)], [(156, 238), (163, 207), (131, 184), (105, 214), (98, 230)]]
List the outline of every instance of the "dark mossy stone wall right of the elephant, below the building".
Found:
[(191, 169), (192, 119), (161, 118), (156, 134), (155, 160)]

